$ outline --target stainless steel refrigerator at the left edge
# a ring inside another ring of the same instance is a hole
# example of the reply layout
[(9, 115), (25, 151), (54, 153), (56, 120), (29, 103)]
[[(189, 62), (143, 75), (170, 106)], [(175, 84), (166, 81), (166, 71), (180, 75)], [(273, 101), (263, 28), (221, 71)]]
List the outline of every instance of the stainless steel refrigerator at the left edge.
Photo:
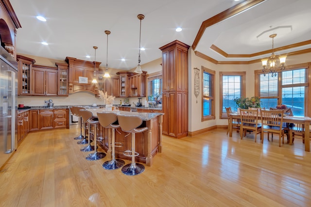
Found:
[(17, 147), (17, 62), (0, 46), (0, 168)]

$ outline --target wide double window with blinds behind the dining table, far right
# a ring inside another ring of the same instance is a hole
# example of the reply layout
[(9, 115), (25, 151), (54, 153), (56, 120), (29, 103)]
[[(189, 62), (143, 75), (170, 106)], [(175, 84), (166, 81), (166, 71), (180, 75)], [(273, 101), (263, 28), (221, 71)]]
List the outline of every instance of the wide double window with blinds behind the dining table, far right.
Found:
[[(284, 104), (291, 108), (296, 116), (308, 116), (309, 87), (308, 64), (292, 65), (277, 73), (276, 77), (255, 71), (257, 87), (255, 96), (259, 96), (261, 107), (276, 108)], [(309, 114), (310, 115), (310, 114)]]

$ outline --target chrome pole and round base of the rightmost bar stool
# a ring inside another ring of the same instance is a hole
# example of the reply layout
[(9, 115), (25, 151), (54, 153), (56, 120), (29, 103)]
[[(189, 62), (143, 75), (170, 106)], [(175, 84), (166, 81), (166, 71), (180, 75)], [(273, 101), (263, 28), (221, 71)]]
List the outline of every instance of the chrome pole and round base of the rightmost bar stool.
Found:
[(145, 166), (135, 163), (135, 133), (132, 133), (132, 162), (121, 169), (124, 175), (139, 175), (144, 172)]

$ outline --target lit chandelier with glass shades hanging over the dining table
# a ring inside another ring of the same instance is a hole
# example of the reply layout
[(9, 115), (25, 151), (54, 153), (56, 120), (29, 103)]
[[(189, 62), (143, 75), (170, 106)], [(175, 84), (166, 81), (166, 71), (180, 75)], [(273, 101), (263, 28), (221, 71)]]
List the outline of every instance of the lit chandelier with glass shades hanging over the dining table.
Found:
[(272, 77), (276, 77), (277, 74), (277, 69), (280, 70), (284, 70), (285, 69), (285, 60), (286, 60), (286, 56), (280, 56), (279, 60), (280, 60), (280, 64), (276, 64), (276, 55), (274, 54), (274, 38), (276, 37), (276, 34), (271, 34), (269, 36), (270, 38), (272, 38), (272, 54), (270, 55), (269, 58), (265, 58), (262, 59), (262, 72), (263, 75), (266, 76), (266, 73), (271, 73)]

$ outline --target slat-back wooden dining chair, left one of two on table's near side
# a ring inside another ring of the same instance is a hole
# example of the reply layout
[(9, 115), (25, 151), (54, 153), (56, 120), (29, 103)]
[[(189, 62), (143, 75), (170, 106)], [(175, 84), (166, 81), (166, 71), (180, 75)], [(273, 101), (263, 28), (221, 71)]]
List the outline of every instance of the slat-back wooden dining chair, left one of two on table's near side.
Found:
[(255, 133), (255, 143), (257, 142), (257, 134), (260, 134), (262, 139), (261, 125), (258, 123), (258, 109), (240, 109), (241, 117), (241, 140), (246, 135), (246, 131), (252, 131)]

